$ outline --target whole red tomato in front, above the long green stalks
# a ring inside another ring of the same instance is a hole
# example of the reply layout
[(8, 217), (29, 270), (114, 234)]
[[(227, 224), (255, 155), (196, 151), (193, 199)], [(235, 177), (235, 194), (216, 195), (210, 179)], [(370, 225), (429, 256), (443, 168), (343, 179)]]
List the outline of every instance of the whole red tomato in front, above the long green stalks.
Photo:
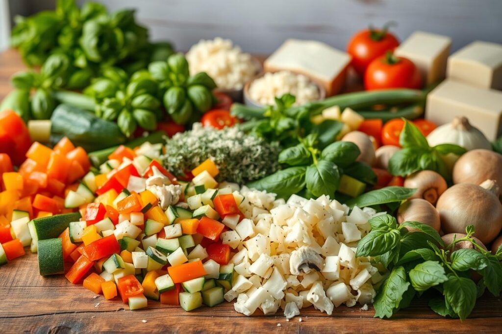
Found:
[(368, 91), (389, 88), (419, 89), (421, 86), (422, 78), (415, 64), (391, 53), (373, 60), (364, 75), (364, 88)]

